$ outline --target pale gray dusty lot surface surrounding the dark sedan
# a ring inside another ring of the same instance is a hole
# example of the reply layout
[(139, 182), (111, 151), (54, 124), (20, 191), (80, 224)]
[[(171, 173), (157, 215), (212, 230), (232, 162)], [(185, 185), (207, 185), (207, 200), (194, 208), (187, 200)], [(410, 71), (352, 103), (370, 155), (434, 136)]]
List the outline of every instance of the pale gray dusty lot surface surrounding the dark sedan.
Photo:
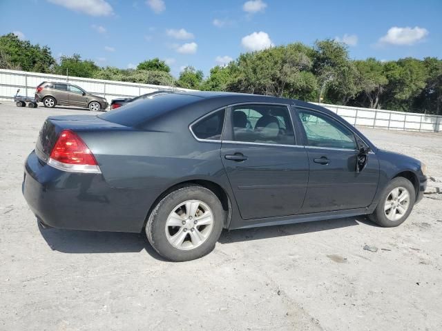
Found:
[[(144, 234), (41, 230), (23, 162), (48, 115), (85, 113), (0, 105), (0, 330), (442, 330), (442, 194), (398, 228), (236, 230), (186, 263)], [(362, 130), (442, 178), (442, 134)]]

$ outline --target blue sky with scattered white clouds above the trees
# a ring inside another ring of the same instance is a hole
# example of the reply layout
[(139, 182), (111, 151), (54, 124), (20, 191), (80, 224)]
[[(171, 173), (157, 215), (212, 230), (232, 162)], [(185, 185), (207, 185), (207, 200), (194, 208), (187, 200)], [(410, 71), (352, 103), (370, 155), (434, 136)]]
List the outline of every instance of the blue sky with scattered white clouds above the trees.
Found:
[(0, 0), (0, 34), (128, 68), (160, 57), (208, 74), (247, 50), (339, 39), (352, 59), (442, 57), (442, 1)]

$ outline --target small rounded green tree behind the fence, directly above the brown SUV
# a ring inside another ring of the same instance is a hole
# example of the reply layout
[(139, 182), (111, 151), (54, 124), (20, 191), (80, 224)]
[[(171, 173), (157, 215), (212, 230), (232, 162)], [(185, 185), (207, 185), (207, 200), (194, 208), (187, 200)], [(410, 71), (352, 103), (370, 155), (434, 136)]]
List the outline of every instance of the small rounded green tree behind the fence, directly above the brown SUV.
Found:
[(92, 78), (98, 70), (99, 67), (94, 61), (81, 60), (79, 54), (73, 54), (72, 57), (62, 56), (54, 71), (57, 74), (66, 74), (67, 72), (69, 76)]

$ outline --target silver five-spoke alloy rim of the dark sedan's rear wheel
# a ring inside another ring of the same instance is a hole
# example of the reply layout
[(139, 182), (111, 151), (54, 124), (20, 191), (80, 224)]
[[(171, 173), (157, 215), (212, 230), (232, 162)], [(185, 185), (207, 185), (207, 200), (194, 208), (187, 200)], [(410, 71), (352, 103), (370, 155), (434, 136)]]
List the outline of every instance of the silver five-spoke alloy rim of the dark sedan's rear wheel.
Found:
[(178, 250), (193, 250), (213, 230), (213, 213), (206, 203), (188, 200), (177, 205), (166, 221), (166, 238)]

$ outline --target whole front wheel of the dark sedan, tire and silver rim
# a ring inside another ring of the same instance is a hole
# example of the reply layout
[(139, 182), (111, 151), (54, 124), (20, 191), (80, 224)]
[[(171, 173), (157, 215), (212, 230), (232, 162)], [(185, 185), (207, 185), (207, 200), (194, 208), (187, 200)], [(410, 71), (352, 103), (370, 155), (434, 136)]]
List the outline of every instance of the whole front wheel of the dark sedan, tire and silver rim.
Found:
[(369, 218), (384, 228), (401, 225), (412, 212), (416, 190), (406, 178), (396, 177), (385, 188), (381, 200)]

